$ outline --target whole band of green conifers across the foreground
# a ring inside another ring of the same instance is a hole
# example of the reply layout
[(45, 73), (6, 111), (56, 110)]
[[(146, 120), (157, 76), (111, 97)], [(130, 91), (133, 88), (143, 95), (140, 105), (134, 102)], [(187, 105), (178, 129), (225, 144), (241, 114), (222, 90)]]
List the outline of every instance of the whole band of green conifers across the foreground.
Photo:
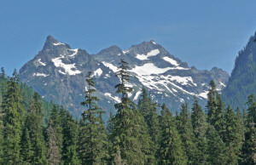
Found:
[[(256, 98), (247, 110), (225, 106), (212, 81), (206, 112), (196, 97), (175, 115), (158, 105), (146, 88), (137, 104), (128, 94), (129, 65), (121, 60), (115, 86), (121, 101), (103, 122), (97, 105), (95, 79), (81, 105), (87, 110), (75, 120), (62, 106), (46, 104), (38, 93), (22, 88), (14, 72), (0, 75), (1, 164), (254, 164), (256, 162)], [(24, 85), (23, 85), (24, 86)], [(24, 92), (24, 90), (26, 92)], [(23, 92), (22, 92), (23, 91)], [(31, 97), (28, 97), (30, 95)], [(50, 112), (49, 112), (50, 109)], [(160, 111), (160, 113), (158, 113)]]

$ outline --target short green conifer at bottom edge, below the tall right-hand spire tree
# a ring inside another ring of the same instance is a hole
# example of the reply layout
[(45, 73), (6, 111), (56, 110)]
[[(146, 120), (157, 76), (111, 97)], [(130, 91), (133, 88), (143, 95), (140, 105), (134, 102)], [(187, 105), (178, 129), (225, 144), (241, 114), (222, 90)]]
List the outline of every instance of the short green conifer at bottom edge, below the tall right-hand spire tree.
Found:
[(207, 129), (207, 144), (208, 164), (228, 164), (226, 146), (212, 125)]

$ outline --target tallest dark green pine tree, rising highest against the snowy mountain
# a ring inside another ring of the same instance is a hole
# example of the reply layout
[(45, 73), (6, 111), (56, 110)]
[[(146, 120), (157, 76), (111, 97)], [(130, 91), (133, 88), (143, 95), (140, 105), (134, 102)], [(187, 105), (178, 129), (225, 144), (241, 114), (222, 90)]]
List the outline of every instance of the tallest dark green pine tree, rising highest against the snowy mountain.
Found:
[(115, 105), (117, 110), (113, 117), (113, 159), (120, 150), (120, 156), (128, 164), (152, 164), (155, 162), (153, 143), (148, 135), (147, 124), (136, 105), (129, 99), (128, 93), (132, 88), (125, 86), (129, 83), (130, 74), (128, 63), (121, 60), (116, 76), (120, 83), (115, 86), (116, 93), (121, 94), (121, 102)]

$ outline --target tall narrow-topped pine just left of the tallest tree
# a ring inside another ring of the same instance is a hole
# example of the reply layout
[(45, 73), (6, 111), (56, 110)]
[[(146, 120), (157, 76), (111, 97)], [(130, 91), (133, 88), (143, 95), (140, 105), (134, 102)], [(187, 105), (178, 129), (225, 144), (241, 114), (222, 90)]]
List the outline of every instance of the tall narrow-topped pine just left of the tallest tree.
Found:
[(102, 108), (97, 105), (99, 99), (94, 95), (95, 83), (91, 72), (86, 76), (88, 89), (81, 105), (88, 107), (82, 114), (79, 128), (79, 157), (82, 164), (103, 164), (108, 159), (107, 130), (102, 121)]

